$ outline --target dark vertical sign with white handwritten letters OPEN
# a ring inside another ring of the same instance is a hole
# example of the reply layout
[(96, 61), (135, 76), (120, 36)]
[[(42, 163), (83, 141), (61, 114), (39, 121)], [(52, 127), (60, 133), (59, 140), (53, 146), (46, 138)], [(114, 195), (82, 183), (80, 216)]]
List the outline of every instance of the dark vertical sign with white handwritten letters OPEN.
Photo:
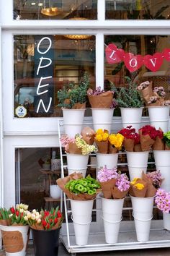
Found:
[(53, 35), (36, 35), (35, 47), (35, 112), (38, 114), (53, 113)]

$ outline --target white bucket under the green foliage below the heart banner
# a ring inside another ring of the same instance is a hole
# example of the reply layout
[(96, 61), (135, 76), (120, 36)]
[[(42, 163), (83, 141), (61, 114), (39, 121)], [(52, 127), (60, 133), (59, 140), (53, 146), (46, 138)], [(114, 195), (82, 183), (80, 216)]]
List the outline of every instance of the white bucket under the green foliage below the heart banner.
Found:
[(143, 108), (120, 108), (122, 127), (126, 128), (132, 125), (136, 129), (136, 132), (138, 132), (142, 119), (142, 111)]

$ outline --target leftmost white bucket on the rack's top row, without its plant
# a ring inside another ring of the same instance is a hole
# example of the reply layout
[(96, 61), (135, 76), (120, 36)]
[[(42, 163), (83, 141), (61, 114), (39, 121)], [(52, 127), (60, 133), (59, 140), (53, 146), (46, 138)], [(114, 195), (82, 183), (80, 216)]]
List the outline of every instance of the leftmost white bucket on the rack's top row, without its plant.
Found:
[(84, 112), (86, 109), (62, 108), (62, 110), (65, 134), (68, 135), (68, 137), (75, 137), (77, 133), (80, 135), (82, 124), (84, 122)]

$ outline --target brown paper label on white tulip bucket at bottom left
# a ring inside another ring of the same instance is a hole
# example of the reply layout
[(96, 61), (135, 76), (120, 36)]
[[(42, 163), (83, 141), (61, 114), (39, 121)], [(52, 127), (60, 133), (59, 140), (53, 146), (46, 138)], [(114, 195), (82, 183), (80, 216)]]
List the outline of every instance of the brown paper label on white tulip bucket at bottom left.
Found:
[(6, 252), (20, 252), (24, 248), (22, 233), (19, 231), (1, 230), (3, 244)]

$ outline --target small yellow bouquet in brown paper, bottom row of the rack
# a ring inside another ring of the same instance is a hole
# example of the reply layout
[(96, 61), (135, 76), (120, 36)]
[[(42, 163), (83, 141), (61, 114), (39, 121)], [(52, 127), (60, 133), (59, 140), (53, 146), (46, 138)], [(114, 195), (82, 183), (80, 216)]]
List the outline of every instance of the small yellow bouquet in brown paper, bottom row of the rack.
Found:
[(147, 187), (148, 184), (143, 179), (135, 178), (130, 182), (129, 193), (133, 197), (146, 197)]

